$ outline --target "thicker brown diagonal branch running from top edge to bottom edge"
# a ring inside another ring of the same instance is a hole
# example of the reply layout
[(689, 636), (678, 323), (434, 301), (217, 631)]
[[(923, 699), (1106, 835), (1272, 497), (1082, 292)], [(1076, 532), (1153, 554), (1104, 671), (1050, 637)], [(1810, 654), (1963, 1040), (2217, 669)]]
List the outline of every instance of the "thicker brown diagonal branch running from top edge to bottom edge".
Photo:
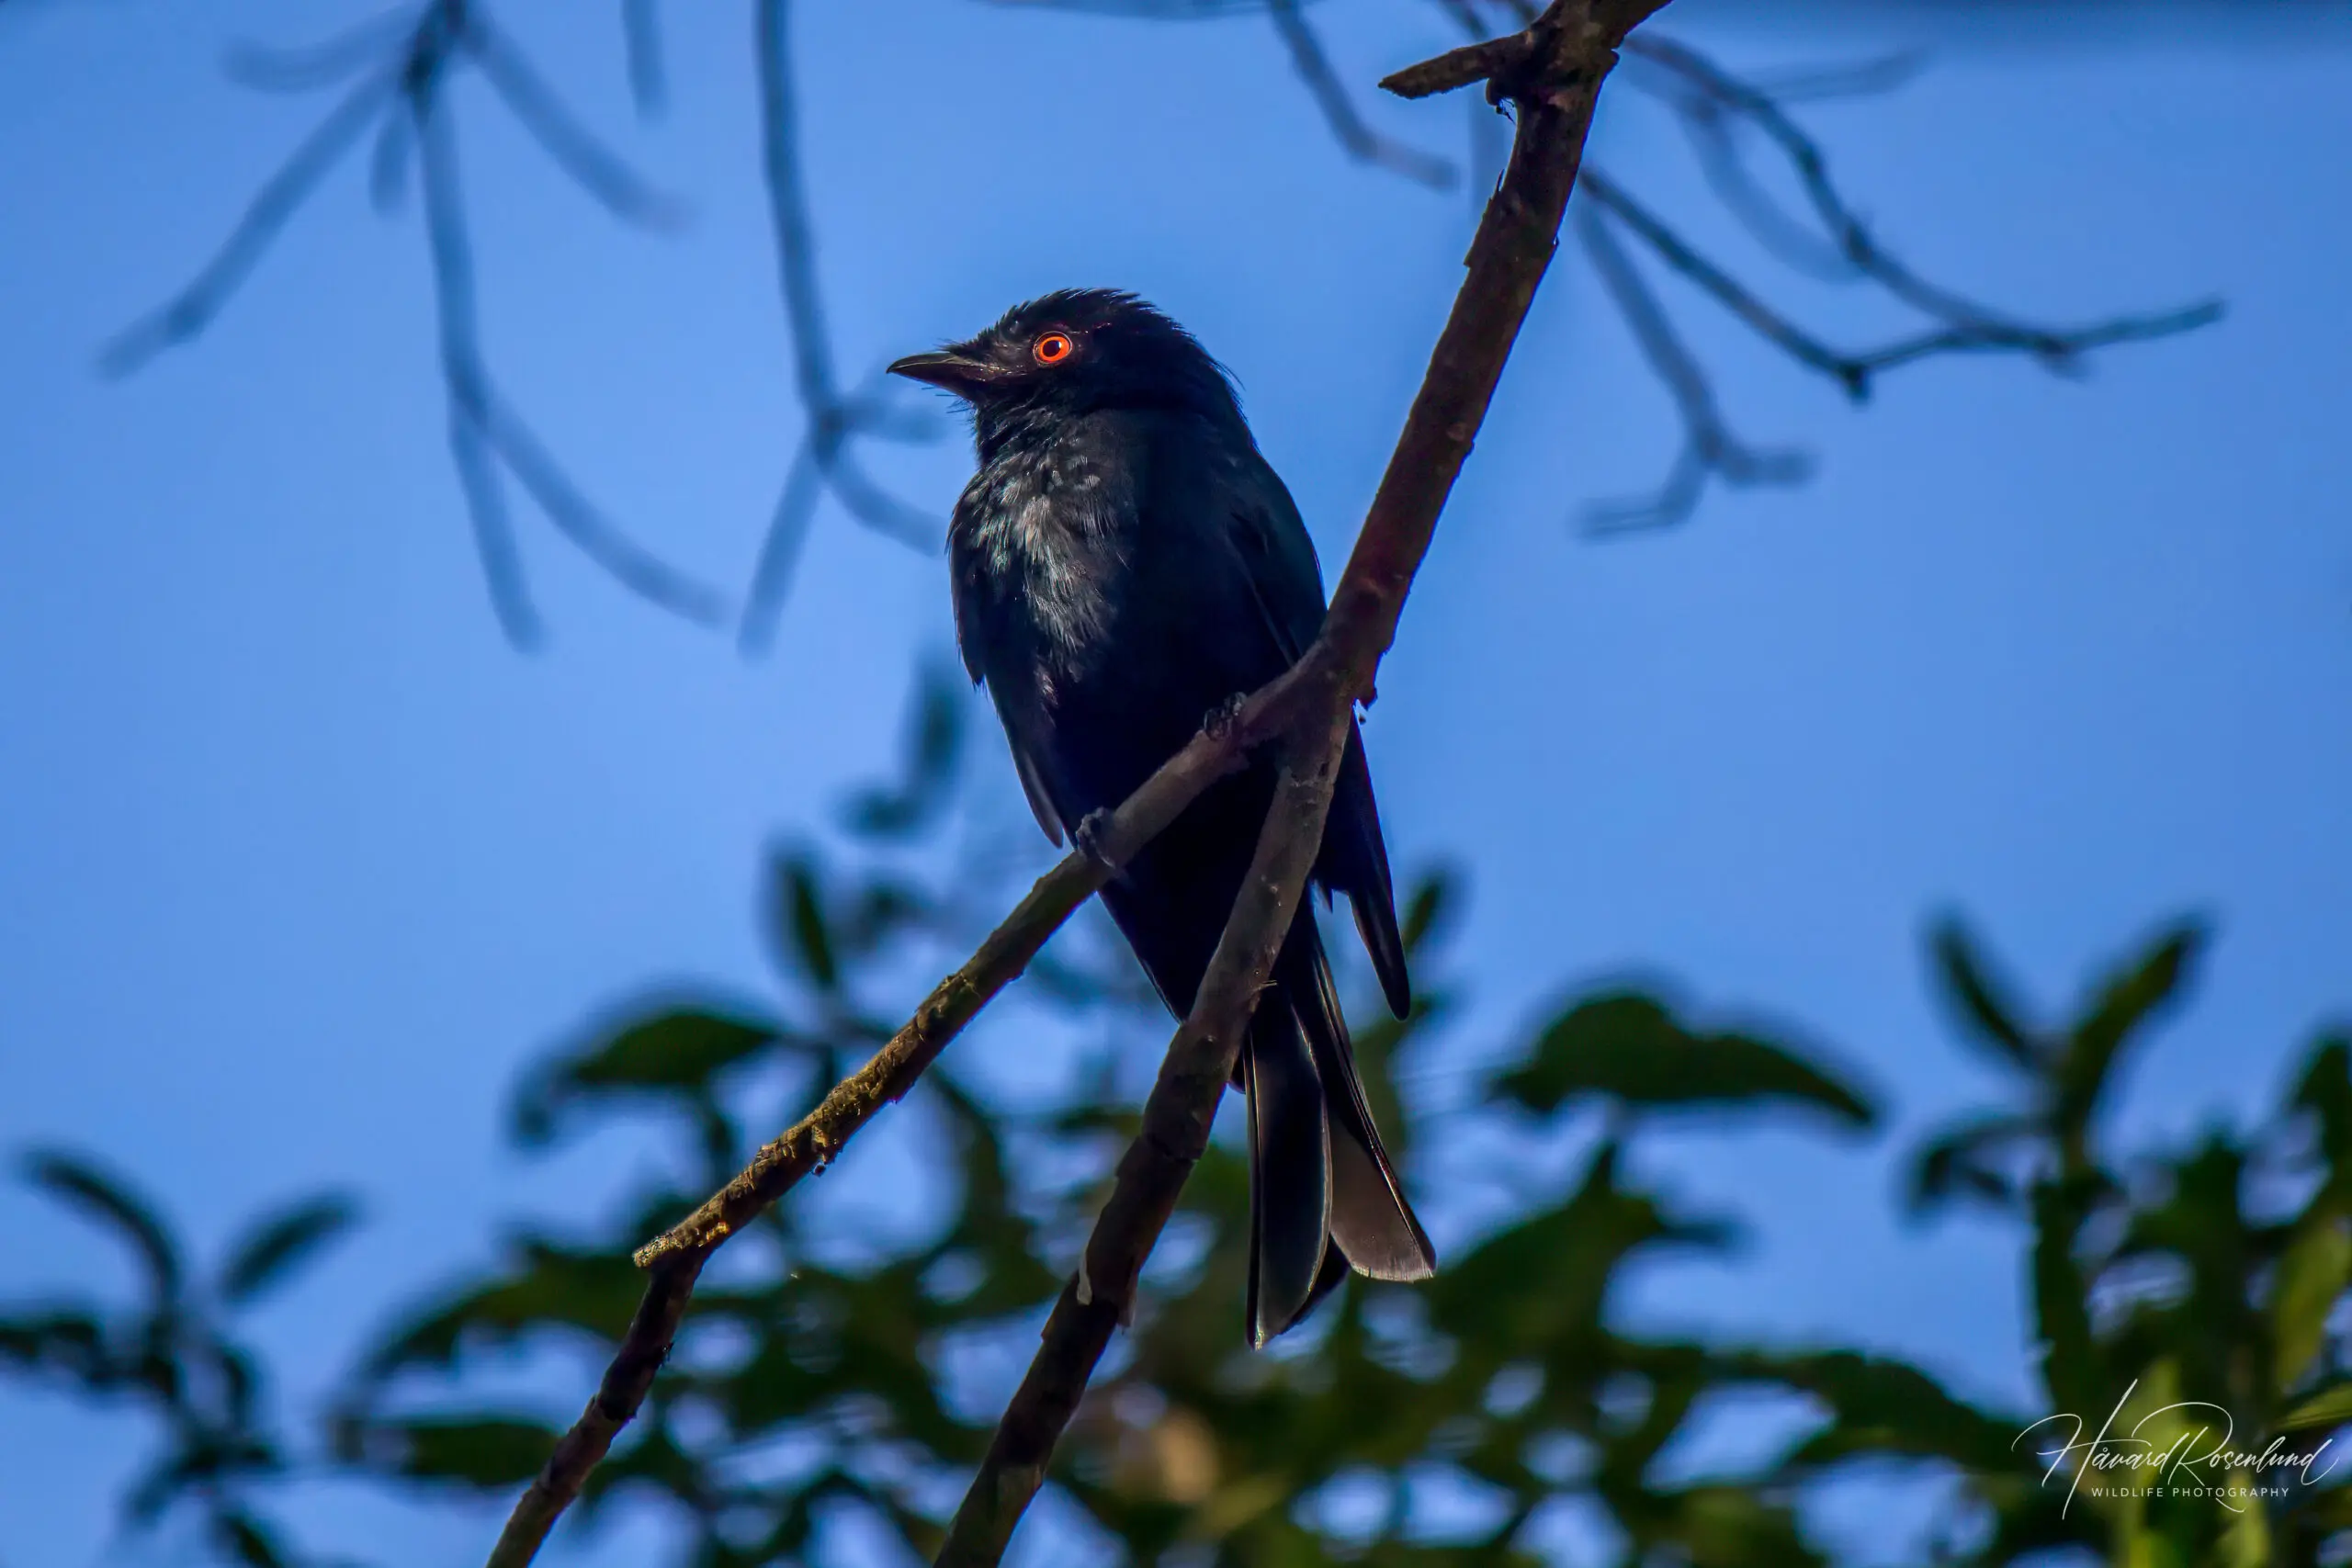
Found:
[(1395, 639), (1397, 616), (1446, 494), (1550, 266), (1599, 85), (1616, 61), (1613, 47), (1661, 5), (1663, 0), (1555, 0), (1512, 47), (1458, 49), (1383, 82), (1392, 92), (1421, 96), (1486, 80), (1489, 96), (1505, 99), (1517, 110), (1510, 167), (1479, 219), (1468, 277), (1341, 574), (1322, 635), (1294, 670), (1305, 684), (1308, 705), (1282, 736), (1279, 785), (1249, 877), (1200, 994), (1169, 1044), (1160, 1081), (1143, 1105), (1143, 1131), (1120, 1161), (1077, 1276), (1054, 1302), (1044, 1342), (955, 1512), (948, 1544), (938, 1554), (941, 1568), (988, 1568), (1004, 1556), (1014, 1526), (1044, 1486), (1054, 1446), (1077, 1410), (1112, 1328), (1134, 1316), (1136, 1279), (1192, 1164), (1209, 1145), (1240, 1037), (1289, 936), (1322, 844), (1350, 701), (1371, 696), (1374, 675)]

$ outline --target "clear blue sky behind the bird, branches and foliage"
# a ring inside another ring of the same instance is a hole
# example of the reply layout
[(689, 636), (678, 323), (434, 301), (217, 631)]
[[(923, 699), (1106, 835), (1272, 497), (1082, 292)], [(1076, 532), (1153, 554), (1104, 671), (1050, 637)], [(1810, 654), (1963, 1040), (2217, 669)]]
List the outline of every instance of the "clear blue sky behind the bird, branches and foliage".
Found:
[[(748, 21), (673, 9), (675, 103), (644, 129), (602, 12), (506, 19), (684, 193), (682, 233), (614, 230), (475, 89), (466, 176), (508, 393), (614, 515), (739, 588), (800, 416)], [(1898, 1145), (1990, 1088), (1929, 1006), (1929, 912), (1966, 910), (2056, 1009), (2150, 922), (2204, 910), (2220, 943), (2126, 1126), (2251, 1114), (2352, 1009), (2352, 52), (2194, 28), (2025, 49), (1856, 16), (1802, 38), (1729, 9), (1686, 33), (1743, 66), (1933, 45), (1900, 94), (1811, 115), (1931, 275), (2053, 320), (2206, 294), (2230, 317), (2079, 383), (1938, 362), (1851, 409), (1668, 287), (1740, 428), (1813, 447), (1820, 475), (1597, 545), (1578, 505), (1649, 484), (1675, 425), (1564, 252), (1369, 726), (1399, 858), (1472, 879), (1456, 1060), (1581, 980), (1658, 973), (1802, 1023), (1886, 1093)], [(442, 449), (416, 216), (372, 214), (358, 169), (202, 343), (92, 371), (325, 108), (226, 87), (221, 47), (360, 14), (0, 21), (0, 1147), (99, 1152), (205, 1241), (289, 1190), (360, 1187), (369, 1227), (263, 1316), (296, 1396), (496, 1215), (612, 1180), (501, 1150), (515, 1067), (644, 980), (762, 985), (760, 846), (889, 759), (910, 663), (950, 639), (941, 562), (833, 510), (746, 663), (524, 508), (553, 637), (510, 654)], [(1355, 82), (1451, 42), (1432, 7), (1324, 16)], [(807, 7), (797, 42), (847, 371), (1049, 287), (1134, 287), (1232, 364), (1324, 559), (1345, 555), (1458, 280), (1461, 193), (1348, 165), (1251, 19), (938, 0)], [(1374, 113), (1465, 146), (1461, 103)], [(1719, 235), (1656, 108), (1618, 92), (1595, 158)], [(1844, 339), (1896, 322), (1785, 296)], [(943, 512), (967, 463), (950, 440), (880, 470)], [(1884, 1147), (1649, 1159), (1762, 1239), (1635, 1307), (2023, 1389), (2009, 1241), (1903, 1232)], [(0, 1295), (120, 1276), (16, 1187), (0, 1234)], [(0, 1394), (5, 1561), (101, 1552), (125, 1434)], [(487, 1519), (381, 1528), (463, 1556)]]

